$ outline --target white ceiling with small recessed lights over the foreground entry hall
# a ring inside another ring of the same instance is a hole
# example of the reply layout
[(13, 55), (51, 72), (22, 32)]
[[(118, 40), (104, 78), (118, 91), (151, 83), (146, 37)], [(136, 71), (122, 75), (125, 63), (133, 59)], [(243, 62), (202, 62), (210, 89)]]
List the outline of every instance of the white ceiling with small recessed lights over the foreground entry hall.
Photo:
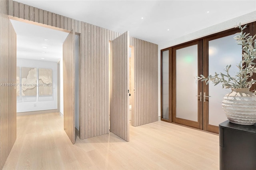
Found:
[(156, 44), (256, 11), (256, 0), (16, 1)]

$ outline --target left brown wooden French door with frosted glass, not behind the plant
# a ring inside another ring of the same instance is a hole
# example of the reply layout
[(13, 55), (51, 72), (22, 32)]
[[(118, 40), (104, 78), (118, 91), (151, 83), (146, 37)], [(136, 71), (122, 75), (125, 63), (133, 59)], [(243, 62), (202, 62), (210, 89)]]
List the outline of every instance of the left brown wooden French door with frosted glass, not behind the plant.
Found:
[[(202, 129), (202, 40), (172, 48), (172, 121)], [(201, 97), (196, 97), (200, 95)]]

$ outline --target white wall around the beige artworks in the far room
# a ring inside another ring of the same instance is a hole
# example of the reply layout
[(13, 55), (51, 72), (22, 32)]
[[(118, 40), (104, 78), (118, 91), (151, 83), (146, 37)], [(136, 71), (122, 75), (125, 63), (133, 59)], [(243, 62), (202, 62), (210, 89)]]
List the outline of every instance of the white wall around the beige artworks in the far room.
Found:
[(57, 62), (17, 58), (17, 67), (52, 69), (52, 96), (17, 97), (17, 113), (58, 109)]

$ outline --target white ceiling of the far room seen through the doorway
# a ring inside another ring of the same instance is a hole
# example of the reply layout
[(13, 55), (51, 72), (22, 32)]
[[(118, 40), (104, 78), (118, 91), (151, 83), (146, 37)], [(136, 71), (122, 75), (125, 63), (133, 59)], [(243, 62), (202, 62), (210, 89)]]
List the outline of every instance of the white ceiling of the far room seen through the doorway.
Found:
[(62, 44), (68, 33), (16, 20), (11, 22), (17, 34), (17, 58), (55, 62), (62, 58)]

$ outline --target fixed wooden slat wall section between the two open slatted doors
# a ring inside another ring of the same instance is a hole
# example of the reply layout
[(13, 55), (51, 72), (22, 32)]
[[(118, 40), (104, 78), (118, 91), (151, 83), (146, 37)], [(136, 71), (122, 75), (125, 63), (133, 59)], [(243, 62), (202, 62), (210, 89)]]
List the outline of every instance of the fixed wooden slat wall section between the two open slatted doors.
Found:
[[(81, 117), (84, 130), (80, 138), (90, 138), (109, 132), (108, 112), (108, 42), (112, 40), (112, 31), (84, 23), (82, 28), (81, 52), (84, 61), (81, 65)], [(113, 32), (114, 35), (114, 32)], [(84, 54), (83, 54), (84, 53)], [(84, 83), (83, 83), (84, 82)], [(82, 108), (82, 105), (83, 108)], [(80, 128), (81, 129), (81, 128)]]

